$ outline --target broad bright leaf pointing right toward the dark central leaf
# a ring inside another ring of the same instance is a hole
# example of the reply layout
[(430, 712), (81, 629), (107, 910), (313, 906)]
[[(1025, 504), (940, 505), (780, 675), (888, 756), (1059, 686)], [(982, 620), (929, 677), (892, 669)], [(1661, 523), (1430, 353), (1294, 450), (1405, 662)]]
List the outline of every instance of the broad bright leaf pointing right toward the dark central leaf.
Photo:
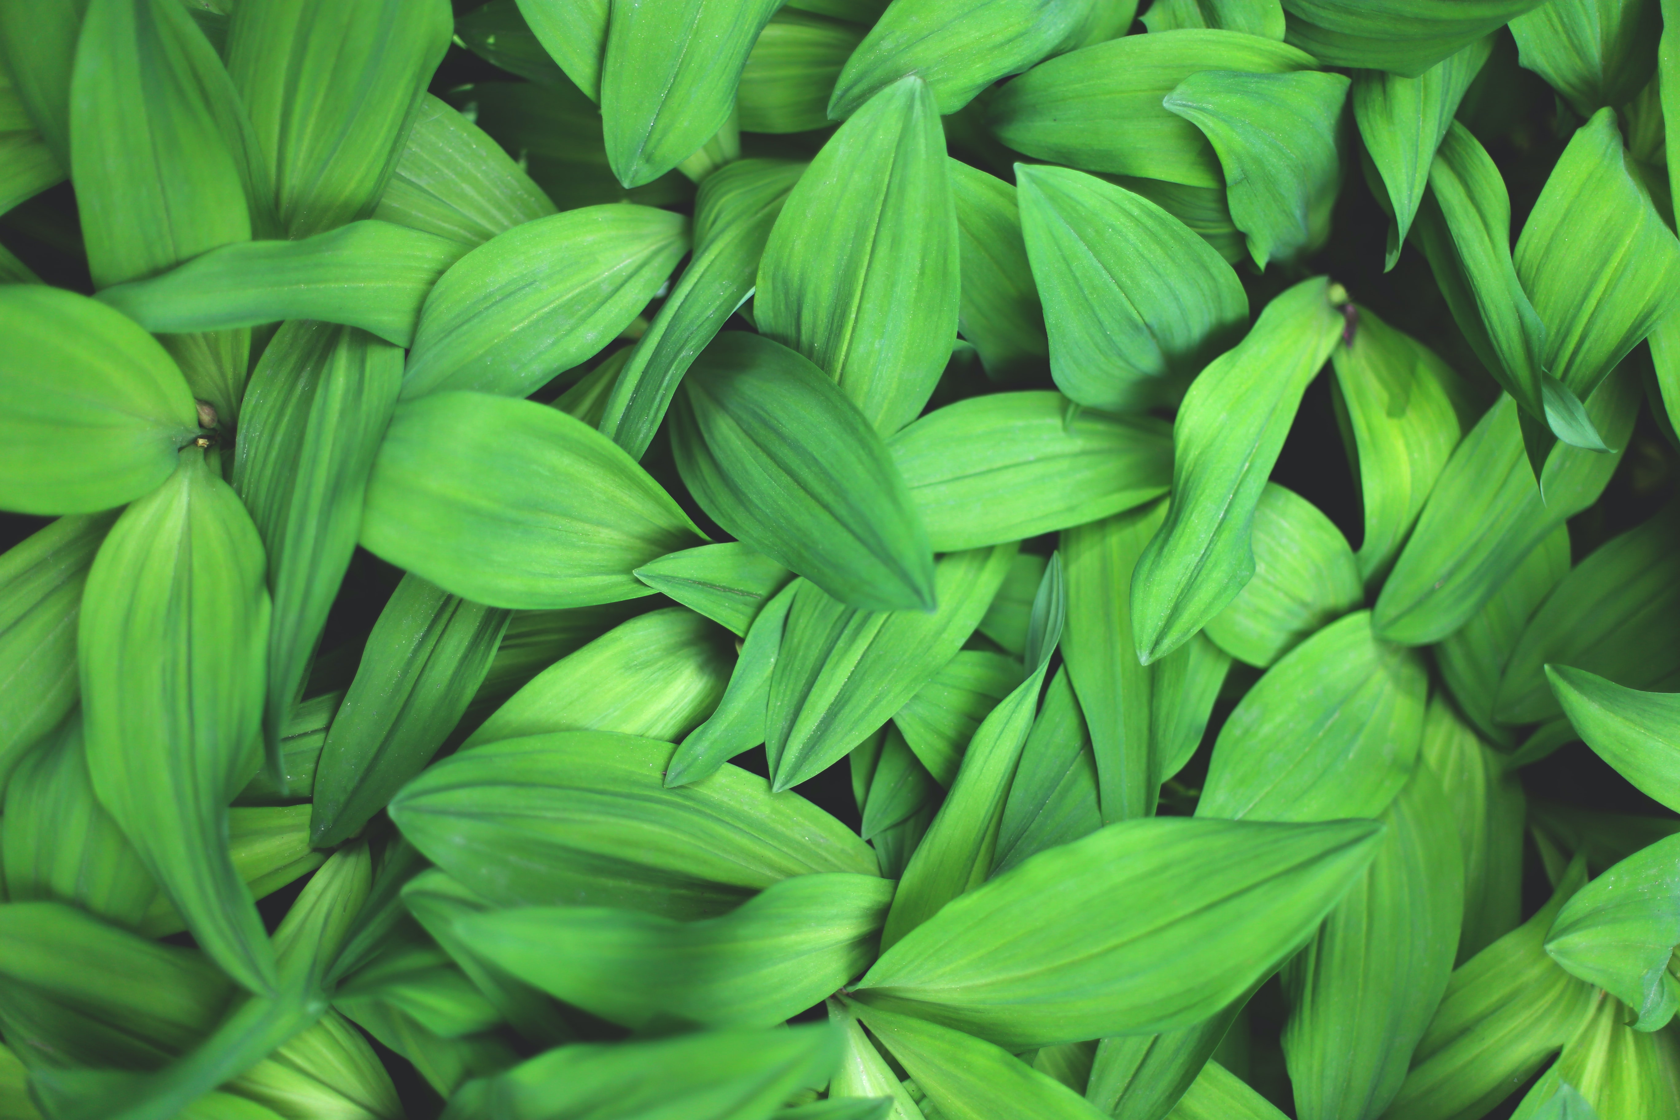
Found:
[[(531, 479), (544, 479), (533, 490)], [(396, 408), (361, 544), (452, 594), (524, 610), (652, 594), (632, 573), (696, 544), (664, 489), (563, 411), (486, 393)], [(497, 563), (484, 564), (484, 556)]]

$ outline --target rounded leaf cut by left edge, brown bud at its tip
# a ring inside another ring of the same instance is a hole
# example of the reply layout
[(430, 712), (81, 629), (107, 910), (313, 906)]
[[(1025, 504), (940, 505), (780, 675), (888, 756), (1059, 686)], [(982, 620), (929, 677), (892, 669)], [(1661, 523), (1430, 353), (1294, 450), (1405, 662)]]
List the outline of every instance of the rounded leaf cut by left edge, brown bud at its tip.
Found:
[(170, 477), (198, 418), (151, 336), (40, 284), (0, 287), (0, 507), (92, 514)]

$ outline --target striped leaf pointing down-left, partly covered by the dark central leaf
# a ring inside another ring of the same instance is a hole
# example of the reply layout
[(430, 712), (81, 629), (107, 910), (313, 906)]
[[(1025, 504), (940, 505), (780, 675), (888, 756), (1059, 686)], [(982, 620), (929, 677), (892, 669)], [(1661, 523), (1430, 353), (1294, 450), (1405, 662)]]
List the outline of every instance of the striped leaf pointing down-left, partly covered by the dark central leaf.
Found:
[(776, 789), (828, 769), (932, 680), (974, 633), (1013, 556), (1013, 544), (946, 556), (931, 613), (858, 611), (801, 584), (764, 719)]

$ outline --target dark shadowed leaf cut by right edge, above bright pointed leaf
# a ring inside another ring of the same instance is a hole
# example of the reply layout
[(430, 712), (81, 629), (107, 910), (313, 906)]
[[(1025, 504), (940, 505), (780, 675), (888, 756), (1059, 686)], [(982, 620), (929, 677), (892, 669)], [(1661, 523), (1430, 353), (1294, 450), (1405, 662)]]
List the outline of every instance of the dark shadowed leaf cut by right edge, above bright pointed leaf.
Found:
[(1505, 724), (1537, 724), (1562, 709), (1546, 665), (1569, 665), (1630, 688), (1680, 688), (1668, 636), (1680, 625), (1680, 522), (1663, 512), (1613, 537), (1562, 578), (1517, 640), (1494, 700)]

